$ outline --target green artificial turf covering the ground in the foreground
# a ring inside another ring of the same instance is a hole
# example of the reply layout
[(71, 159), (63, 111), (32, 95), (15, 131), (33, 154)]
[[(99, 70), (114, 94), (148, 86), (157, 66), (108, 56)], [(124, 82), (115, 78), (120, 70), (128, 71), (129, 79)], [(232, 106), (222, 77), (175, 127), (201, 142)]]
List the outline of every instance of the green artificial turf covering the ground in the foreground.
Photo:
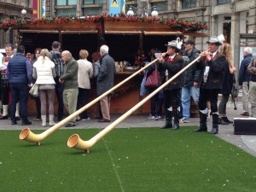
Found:
[(0, 191), (256, 191), (256, 158), (194, 128), (114, 129), (90, 154), (68, 148), (67, 139), (89, 140), (98, 129), (59, 130), (41, 146), (0, 131)]

